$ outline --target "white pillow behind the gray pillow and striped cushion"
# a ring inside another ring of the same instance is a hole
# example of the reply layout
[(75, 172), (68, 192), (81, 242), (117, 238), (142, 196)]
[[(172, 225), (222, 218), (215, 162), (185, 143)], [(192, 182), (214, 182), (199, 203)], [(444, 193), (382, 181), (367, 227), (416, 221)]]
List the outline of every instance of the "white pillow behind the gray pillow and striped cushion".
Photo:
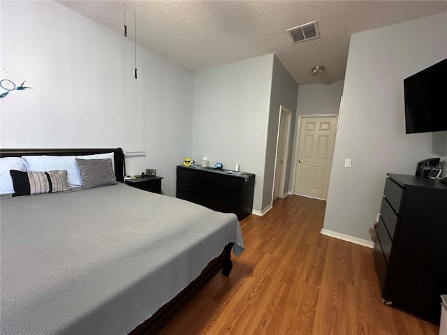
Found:
[(70, 187), (82, 186), (81, 174), (75, 162), (75, 156), (23, 156), (27, 162), (27, 172), (67, 170)]

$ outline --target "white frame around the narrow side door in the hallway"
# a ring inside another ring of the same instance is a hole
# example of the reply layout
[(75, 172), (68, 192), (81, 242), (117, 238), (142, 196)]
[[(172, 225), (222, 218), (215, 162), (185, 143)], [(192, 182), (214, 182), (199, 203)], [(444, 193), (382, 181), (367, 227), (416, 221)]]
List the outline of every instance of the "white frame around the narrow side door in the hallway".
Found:
[[(279, 126), (281, 123), (281, 113), (286, 114), (286, 125), (284, 126), (284, 150), (283, 150), (283, 161), (282, 165), (282, 173), (281, 173), (281, 181), (279, 181), (279, 191), (278, 198), (285, 198), (284, 188), (286, 186), (286, 172), (287, 172), (287, 164), (288, 164), (288, 147), (290, 146), (291, 139), (291, 126), (292, 126), (292, 112), (288, 110), (283, 105), (279, 105), (279, 119), (278, 119), (278, 129), (277, 129), (277, 148), (274, 151), (274, 172), (273, 172), (273, 187), (272, 187), (272, 200), (270, 201), (273, 204), (273, 193), (274, 193), (274, 181), (277, 177), (277, 160), (278, 160), (278, 144), (279, 144)], [(288, 192), (287, 192), (288, 195)]]

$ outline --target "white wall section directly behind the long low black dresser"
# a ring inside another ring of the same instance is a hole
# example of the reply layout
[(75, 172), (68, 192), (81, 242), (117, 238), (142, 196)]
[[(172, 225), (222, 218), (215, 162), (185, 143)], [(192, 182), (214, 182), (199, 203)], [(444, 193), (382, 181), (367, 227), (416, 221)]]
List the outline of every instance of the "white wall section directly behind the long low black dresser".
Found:
[(193, 159), (256, 174), (254, 210), (261, 211), (273, 54), (194, 74)]

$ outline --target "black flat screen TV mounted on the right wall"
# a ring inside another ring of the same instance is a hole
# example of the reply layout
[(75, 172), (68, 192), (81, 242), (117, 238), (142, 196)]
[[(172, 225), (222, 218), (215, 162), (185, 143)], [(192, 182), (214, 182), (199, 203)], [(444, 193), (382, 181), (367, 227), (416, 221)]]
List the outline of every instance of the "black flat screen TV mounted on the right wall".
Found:
[(447, 59), (404, 79), (407, 134), (447, 131)]

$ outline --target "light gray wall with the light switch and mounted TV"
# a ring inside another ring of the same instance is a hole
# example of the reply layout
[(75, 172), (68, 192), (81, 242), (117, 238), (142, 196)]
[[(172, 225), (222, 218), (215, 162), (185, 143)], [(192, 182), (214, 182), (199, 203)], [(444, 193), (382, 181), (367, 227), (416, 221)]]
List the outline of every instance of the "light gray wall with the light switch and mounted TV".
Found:
[(402, 82), (446, 58), (446, 22), (435, 15), (351, 36), (325, 230), (369, 239), (386, 173), (414, 174), (423, 158), (447, 156), (447, 132), (405, 134)]

